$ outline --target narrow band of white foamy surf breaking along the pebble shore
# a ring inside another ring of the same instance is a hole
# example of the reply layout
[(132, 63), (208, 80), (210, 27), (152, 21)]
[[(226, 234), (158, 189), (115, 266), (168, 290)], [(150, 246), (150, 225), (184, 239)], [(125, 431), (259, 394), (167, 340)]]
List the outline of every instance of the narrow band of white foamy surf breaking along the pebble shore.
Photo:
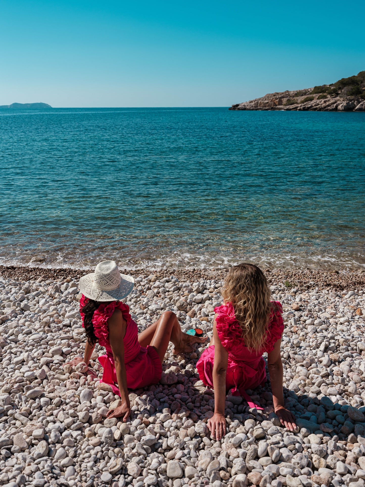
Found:
[[(168, 249), (167, 249), (168, 250)], [(3, 254), (3, 255), (1, 255)], [(189, 253), (171, 251), (157, 257), (140, 259), (133, 251), (127, 257), (121, 256), (118, 249), (106, 248), (105, 251), (97, 249), (90, 252), (91, 255), (74, 255), (71, 251), (67, 257), (53, 253), (33, 253), (31, 255), (18, 253), (14, 257), (4, 256), (4, 247), (0, 249), (0, 265), (5, 267), (26, 267), (43, 269), (74, 269), (89, 271), (102, 260), (113, 260), (120, 268), (128, 271), (145, 269), (147, 271), (160, 271), (164, 269), (179, 270), (217, 270), (225, 269), (240, 262), (250, 262), (262, 268), (285, 269), (285, 270), (306, 270), (313, 271), (339, 271), (339, 272), (361, 272), (365, 271), (365, 254), (357, 252), (356, 255), (344, 256), (338, 254), (320, 255), (312, 254), (288, 254), (277, 249), (277, 253), (271, 252), (259, 254), (253, 252), (232, 253), (213, 255), (207, 253)], [(32, 256), (33, 255), (33, 256)]]

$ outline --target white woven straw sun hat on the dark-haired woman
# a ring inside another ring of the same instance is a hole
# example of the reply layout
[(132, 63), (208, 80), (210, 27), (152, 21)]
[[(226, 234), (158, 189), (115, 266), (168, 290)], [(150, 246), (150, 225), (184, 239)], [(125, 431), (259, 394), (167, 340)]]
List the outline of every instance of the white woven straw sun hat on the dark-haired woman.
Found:
[(97, 264), (95, 272), (80, 278), (80, 291), (84, 296), (95, 301), (122, 300), (133, 289), (132, 276), (120, 274), (114, 261)]

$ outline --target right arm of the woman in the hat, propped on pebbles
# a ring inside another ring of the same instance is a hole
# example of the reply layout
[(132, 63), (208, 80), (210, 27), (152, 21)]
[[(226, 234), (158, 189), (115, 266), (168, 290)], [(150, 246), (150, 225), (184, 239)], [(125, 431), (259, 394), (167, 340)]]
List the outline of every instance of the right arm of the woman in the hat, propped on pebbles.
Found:
[(124, 363), (124, 343), (123, 338), (126, 335), (126, 320), (122, 316), (122, 312), (115, 310), (112, 316), (108, 319), (109, 340), (111, 351), (115, 363), (115, 372), (118, 380), (118, 387), (122, 405), (114, 410), (110, 410), (107, 414), (109, 418), (119, 418), (123, 416), (123, 421), (126, 422), (130, 415), (130, 402), (127, 387), (127, 373), (126, 365)]

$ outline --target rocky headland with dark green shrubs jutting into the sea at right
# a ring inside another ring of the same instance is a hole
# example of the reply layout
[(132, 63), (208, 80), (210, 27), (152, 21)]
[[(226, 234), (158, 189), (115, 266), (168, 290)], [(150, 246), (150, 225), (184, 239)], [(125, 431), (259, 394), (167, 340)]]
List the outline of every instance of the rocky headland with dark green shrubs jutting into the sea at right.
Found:
[(365, 71), (330, 85), (271, 93), (232, 105), (229, 110), (365, 111)]

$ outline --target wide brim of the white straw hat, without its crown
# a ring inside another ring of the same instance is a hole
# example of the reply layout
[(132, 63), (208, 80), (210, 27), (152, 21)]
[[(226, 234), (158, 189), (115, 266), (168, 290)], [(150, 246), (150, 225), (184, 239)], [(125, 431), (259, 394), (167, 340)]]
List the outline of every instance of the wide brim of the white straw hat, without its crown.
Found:
[(134, 287), (132, 276), (121, 274), (121, 281), (118, 287), (103, 291), (93, 285), (94, 273), (82, 276), (79, 281), (80, 291), (86, 298), (94, 301), (119, 301), (126, 298)]

